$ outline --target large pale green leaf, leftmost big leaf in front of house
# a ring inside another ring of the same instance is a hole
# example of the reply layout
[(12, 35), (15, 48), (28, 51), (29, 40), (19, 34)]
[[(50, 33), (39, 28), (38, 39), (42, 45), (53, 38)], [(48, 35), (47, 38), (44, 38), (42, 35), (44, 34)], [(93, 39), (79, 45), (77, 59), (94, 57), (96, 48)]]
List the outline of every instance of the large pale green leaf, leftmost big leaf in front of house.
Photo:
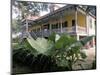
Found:
[(34, 40), (31, 36), (27, 38), (30, 45), (39, 53), (46, 54), (53, 47), (53, 42), (45, 38), (37, 38)]

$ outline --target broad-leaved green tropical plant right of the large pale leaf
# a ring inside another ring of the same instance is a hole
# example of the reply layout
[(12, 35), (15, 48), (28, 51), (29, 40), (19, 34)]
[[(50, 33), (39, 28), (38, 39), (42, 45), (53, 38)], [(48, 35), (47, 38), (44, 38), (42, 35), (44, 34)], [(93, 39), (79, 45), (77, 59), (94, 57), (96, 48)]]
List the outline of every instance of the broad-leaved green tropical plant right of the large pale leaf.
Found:
[[(50, 40), (54, 41), (54, 34), (51, 35)], [(62, 34), (60, 38), (55, 42), (55, 50), (52, 56), (56, 59), (58, 66), (67, 67), (69, 70), (73, 69), (73, 65), (82, 59), (86, 58), (86, 54), (81, 48), (92, 39), (92, 36), (86, 37), (80, 41), (69, 35)]]

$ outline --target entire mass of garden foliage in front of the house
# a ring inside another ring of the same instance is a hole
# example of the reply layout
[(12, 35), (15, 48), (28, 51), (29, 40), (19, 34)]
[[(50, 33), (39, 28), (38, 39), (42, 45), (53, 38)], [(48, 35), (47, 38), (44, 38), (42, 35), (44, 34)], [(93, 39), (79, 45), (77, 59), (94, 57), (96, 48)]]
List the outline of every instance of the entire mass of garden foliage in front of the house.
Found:
[[(77, 41), (67, 34), (62, 34), (61, 36), (52, 34), (49, 39), (37, 38), (36, 40), (29, 36), (24, 40), (24, 44), (20, 44), (20, 46), (23, 45), (22, 48), (15, 50), (19, 55), (16, 55), (16, 52), (14, 55), (18, 56), (17, 58), (21, 57), (21, 61), (23, 59), (23, 62), (26, 62), (24, 60), (27, 59), (30, 60), (31, 64), (38, 64), (40, 67), (33, 65), (38, 67), (37, 69), (39, 70), (44, 68), (42, 71), (46, 71), (49, 67), (54, 68), (52, 71), (73, 70), (73, 65), (77, 61), (83, 61), (86, 58), (86, 54), (81, 50), (81, 47), (91, 39), (92, 36), (89, 36)], [(21, 49), (23, 49), (22, 52)], [(50, 64), (55, 65), (50, 66)], [(51, 68), (48, 71), (51, 71)]]

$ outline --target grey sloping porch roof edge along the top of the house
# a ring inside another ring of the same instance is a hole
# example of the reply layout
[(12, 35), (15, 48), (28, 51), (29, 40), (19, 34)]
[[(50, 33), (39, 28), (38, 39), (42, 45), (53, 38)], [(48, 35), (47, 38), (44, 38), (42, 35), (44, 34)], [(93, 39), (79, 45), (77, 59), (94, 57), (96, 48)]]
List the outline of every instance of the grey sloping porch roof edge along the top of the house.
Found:
[[(63, 12), (65, 12), (66, 10), (68, 11), (69, 9), (72, 9), (72, 10), (76, 10), (76, 8), (79, 8), (80, 10), (82, 10), (83, 12), (85, 12), (86, 13), (86, 11), (82, 8), (82, 7), (79, 7), (78, 5), (67, 5), (67, 6), (64, 6), (64, 7), (61, 7), (61, 8), (59, 8), (59, 9), (57, 9), (57, 10), (55, 10), (54, 12), (50, 12), (50, 13), (48, 13), (48, 14), (46, 14), (46, 15), (44, 15), (44, 16), (41, 16), (40, 18), (38, 18), (38, 19), (36, 19), (36, 20), (28, 20), (28, 23), (30, 23), (31, 25), (30, 26), (35, 26), (35, 25), (37, 25), (37, 24), (39, 24), (39, 23), (45, 23), (45, 22), (47, 22), (49, 19), (51, 19), (52, 18), (52, 16), (53, 17), (60, 17), (60, 16), (63, 16)], [(90, 12), (88, 12), (88, 14), (90, 15), (90, 16), (92, 16), (93, 18), (95, 18), (95, 16), (92, 14), (92, 13), (90, 13)], [(60, 15), (60, 16), (59, 16)], [(23, 20), (23, 22), (25, 22), (25, 20)]]

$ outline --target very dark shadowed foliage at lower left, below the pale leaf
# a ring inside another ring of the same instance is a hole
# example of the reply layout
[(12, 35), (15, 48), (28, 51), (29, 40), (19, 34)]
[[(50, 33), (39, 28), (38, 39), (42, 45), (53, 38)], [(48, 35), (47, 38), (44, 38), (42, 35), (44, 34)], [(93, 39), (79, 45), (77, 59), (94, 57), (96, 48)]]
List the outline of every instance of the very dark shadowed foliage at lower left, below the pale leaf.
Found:
[(35, 56), (30, 50), (22, 48), (13, 51), (13, 61), (29, 66), (33, 72), (50, 72), (60, 69), (57, 67), (55, 59), (50, 56), (43, 54)]

